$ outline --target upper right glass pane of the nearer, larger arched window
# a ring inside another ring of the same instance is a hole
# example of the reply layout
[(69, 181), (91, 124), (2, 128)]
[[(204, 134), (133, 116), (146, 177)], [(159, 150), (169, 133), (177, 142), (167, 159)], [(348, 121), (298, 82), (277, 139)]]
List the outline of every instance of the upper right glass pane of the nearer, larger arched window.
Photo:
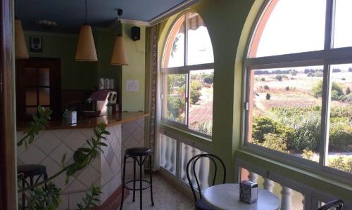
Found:
[(334, 48), (352, 46), (351, 0), (336, 0)]

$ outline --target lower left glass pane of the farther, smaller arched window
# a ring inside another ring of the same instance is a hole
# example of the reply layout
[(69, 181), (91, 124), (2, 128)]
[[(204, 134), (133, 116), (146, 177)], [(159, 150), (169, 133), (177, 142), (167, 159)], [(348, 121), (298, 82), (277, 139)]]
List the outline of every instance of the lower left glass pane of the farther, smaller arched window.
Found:
[(165, 76), (166, 100), (164, 118), (185, 124), (187, 74), (168, 74)]

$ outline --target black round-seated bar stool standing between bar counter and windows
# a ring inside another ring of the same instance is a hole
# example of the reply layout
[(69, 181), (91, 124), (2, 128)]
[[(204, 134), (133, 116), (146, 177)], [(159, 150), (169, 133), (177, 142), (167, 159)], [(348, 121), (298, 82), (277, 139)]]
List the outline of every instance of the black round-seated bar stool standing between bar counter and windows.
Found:
[[(133, 159), (133, 180), (127, 181), (125, 183), (125, 173), (126, 173), (126, 160), (127, 158), (132, 157)], [(142, 166), (146, 161), (146, 158), (149, 157), (149, 174), (150, 180), (142, 179)], [(139, 179), (136, 179), (136, 163), (139, 165)], [(139, 181), (139, 188), (136, 188), (136, 181)], [(128, 183), (133, 183), (133, 188), (128, 188), (126, 185)], [(146, 187), (143, 187), (142, 183), (147, 183)], [(124, 189), (133, 190), (133, 202), (135, 201), (136, 190), (139, 190), (139, 207), (142, 210), (142, 190), (148, 188), (151, 189), (151, 206), (154, 206), (153, 201), (153, 181), (151, 177), (151, 149), (149, 147), (132, 147), (125, 150), (125, 157), (123, 159), (123, 172), (122, 172), (122, 200), (120, 210), (122, 210), (123, 198), (124, 198)]]

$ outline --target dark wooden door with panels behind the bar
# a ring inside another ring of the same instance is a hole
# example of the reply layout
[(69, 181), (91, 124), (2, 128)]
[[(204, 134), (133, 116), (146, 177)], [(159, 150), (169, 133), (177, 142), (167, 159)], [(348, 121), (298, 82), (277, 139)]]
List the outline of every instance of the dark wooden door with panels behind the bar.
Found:
[(16, 99), (19, 121), (32, 118), (37, 107), (50, 107), (51, 119), (61, 118), (60, 59), (30, 58), (16, 62)]

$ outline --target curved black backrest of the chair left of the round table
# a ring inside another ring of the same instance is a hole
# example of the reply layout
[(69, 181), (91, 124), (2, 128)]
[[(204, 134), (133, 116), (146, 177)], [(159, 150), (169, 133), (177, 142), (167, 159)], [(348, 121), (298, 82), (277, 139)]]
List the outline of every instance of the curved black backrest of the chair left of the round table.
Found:
[(189, 166), (192, 165), (192, 168), (191, 168), (192, 171), (191, 172), (193, 172), (193, 176), (196, 179), (196, 185), (197, 185), (198, 192), (199, 192), (199, 199), (202, 199), (201, 186), (199, 185), (199, 179), (198, 179), (198, 177), (196, 175), (196, 169), (195, 169), (196, 162), (199, 161), (199, 159), (201, 159), (201, 158), (208, 158), (214, 164), (213, 185), (215, 185), (216, 173), (218, 173), (218, 165), (216, 164), (215, 159), (217, 159), (218, 162), (220, 162), (220, 164), (222, 165), (222, 169), (224, 171), (224, 178), (223, 178), (222, 183), (225, 183), (225, 180), (226, 180), (225, 164), (224, 164), (224, 162), (222, 162), (222, 160), (219, 157), (217, 157), (215, 155), (212, 155), (212, 154), (201, 154), (201, 155), (196, 155), (196, 156), (192, 157), (191, 159), (189, 159), (189, 162), (187, 163), (187, 167), (186, 167), (186, 173), (187, 173), (188, 183), (189, 183), (189, 186), (191, 187), (191, 190), (192, 190), (192, 193), (193, 193), (195, 201), (197, 200), (197, 196), (196, 196), (196, 191), (194, 190), (194, 185), (193, 185), (193, 183), (191, 181), (191, 176), (189, 176)]

